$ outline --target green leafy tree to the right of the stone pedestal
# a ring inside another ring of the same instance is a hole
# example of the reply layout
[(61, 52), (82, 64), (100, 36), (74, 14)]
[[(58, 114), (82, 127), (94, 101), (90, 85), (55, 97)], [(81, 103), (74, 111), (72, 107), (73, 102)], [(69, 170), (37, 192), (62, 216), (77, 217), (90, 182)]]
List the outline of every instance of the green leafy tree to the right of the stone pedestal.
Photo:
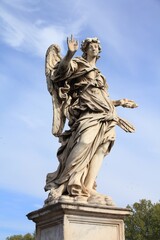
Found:
[(126, 240), (160, 240), (160, 202), (142, 199), (127, 207), (132, 215), (125, 220)]

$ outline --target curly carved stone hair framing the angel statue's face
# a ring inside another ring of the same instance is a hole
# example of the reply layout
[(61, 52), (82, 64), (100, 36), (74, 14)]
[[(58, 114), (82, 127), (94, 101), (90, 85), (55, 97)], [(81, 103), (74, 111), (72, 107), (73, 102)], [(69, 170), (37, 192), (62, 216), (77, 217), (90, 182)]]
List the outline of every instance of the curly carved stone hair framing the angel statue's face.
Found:
[(98, 38), (94, 37), (94, 38), (86, 38), (81, 43), (81, 50), (83, 52), (82, 57), (84, 59), (87, 59), (88, 49), (89, 49), (90, 45), (93, 45), (93, 44), (97, 45), (97, 47), (98, 47), (98, 55), (96, 56), (96, 58), (97, 59), (100, 58), (99, 53), (101, 52), (102, 48), (101, 48), (100, 41), (98, 40)]

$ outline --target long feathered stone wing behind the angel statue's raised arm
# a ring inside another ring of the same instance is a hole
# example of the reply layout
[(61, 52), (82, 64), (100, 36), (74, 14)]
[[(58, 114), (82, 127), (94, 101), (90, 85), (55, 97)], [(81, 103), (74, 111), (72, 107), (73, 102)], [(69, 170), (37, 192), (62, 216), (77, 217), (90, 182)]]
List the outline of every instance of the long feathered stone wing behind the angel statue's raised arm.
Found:
[(54, 136), (59, 136), (64, 128), (65, 116), (62, 111), (62, 100), (58, 95), (58, 84), (54, 82), (55, 67), (62, 59), (60, 55), (60, 47), (52, 44), (46, 52), (45, 59), (45, 75), (47, 81), (47, 88), (52, 96), (53, 104), (53, 124), (52, 133)]

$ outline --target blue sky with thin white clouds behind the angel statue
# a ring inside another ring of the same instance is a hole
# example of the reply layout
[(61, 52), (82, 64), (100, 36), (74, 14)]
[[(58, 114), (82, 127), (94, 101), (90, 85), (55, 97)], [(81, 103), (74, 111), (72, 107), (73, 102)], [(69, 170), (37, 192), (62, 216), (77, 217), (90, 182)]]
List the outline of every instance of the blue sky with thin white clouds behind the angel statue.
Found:
[[(160, 199), (160, 2), (158, 0), (1, 0), (0, 3), (0, 240), (34, 231), (26, 214), (43, 206), (48, 172), (57, 168), (52, 104), (44, 56), (66, 37), (98, 37), (98, 67), (110, 97), (135, 100), (118, 108), (136, 127), (118, 127), (103, 162), (98, 190), (117, 206)], [(78, 51), (77, 54), (81, 55)]]

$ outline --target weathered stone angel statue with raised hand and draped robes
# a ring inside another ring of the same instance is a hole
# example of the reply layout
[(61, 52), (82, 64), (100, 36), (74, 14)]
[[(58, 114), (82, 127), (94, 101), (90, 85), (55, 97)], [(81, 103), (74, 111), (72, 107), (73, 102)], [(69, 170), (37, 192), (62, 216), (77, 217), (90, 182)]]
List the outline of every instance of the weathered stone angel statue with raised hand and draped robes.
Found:
[[(58, 45), (46, 53), (46, 78), (53, 101), (53, 135), (61, 143), (57, 152), (58, 169), (47, 175), (45, 204), (72, 199), (113, 205), (109, 196), (96, 191), (96, 177), (104, 157), (115, 141), (115, 126), (126, 132), (134, 127), (117, 116), (117, 106), (135, 108), (128, 99), (111, 100), (105, 77), (96, 67), (101, 45), (98, 38), (82, 41), (82, 57), (73, 58), (78, 41), (67, 38), (64, 58)], [(64, 130), (68, 119), (69, 130)], [(64, 130), (64, 131), (63, 131)]]

